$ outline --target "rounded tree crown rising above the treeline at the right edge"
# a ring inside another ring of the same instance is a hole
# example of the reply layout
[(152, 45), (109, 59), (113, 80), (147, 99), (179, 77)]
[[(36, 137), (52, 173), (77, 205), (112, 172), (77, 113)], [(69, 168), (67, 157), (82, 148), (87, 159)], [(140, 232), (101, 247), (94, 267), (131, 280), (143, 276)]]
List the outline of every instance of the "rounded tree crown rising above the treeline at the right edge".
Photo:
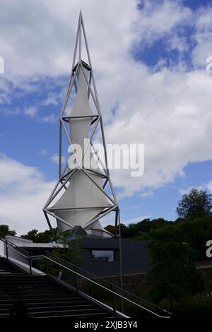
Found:
[(212, 195), (204, 190), (192, 189), (184, 194), (177, 206), (179, 218), (202, 218), (211, 215)]

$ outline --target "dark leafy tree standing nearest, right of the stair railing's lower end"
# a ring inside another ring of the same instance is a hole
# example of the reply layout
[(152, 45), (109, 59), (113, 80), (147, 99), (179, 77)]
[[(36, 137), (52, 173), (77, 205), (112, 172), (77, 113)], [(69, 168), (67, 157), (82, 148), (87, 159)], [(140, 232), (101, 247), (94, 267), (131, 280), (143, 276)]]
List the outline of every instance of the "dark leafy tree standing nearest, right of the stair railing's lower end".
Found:
[(195, 266), (195, 251), (184, 242), (182, 230), (167, 225), (150, 234), (147, 248), (151, 256), (152, 271), (148, 277), (153, 283), (151, 296), (155, 302), (163, 299), (174, 302), (204, 290), (204, 279)]

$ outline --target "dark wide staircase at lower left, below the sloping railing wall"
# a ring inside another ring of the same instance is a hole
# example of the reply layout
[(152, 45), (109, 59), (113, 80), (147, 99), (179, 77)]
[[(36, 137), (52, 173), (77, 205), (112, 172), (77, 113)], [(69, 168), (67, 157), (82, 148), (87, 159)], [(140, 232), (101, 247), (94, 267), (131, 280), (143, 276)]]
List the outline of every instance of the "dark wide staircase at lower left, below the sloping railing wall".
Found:
[(47, 275), (30, 275), (0, 258), (0, 319), (9, 316), (13, 303), (23, 300), (34, 318), (107, 318), (114, 316)]

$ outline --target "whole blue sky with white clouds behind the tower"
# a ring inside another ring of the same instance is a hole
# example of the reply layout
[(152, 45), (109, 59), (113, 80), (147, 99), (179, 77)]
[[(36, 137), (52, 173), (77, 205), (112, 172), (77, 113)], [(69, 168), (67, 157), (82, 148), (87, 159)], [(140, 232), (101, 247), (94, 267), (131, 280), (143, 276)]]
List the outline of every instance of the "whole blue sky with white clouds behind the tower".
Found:
[(107, 143), (146, 147), (142, 179), (111, 172), (122, 220), (175, 220), (182, 194), (212, 191), (211, 1), (88, 2), (1, 4), (0, 223), (18, 234), (47, 229), (42, 206), (58, 177), (59, 112), (80, 8)]

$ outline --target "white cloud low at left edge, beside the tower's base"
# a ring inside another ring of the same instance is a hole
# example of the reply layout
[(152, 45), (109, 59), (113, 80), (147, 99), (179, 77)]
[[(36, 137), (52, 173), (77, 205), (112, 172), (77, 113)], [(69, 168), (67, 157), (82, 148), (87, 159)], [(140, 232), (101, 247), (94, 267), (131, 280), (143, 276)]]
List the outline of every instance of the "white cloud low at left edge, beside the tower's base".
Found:
[(0, 155), (0, 223), (16, 229), (18, 235), (36, 228), (47, 230), (42, 207), (55, 182), (45, 179), (36, 167)]

